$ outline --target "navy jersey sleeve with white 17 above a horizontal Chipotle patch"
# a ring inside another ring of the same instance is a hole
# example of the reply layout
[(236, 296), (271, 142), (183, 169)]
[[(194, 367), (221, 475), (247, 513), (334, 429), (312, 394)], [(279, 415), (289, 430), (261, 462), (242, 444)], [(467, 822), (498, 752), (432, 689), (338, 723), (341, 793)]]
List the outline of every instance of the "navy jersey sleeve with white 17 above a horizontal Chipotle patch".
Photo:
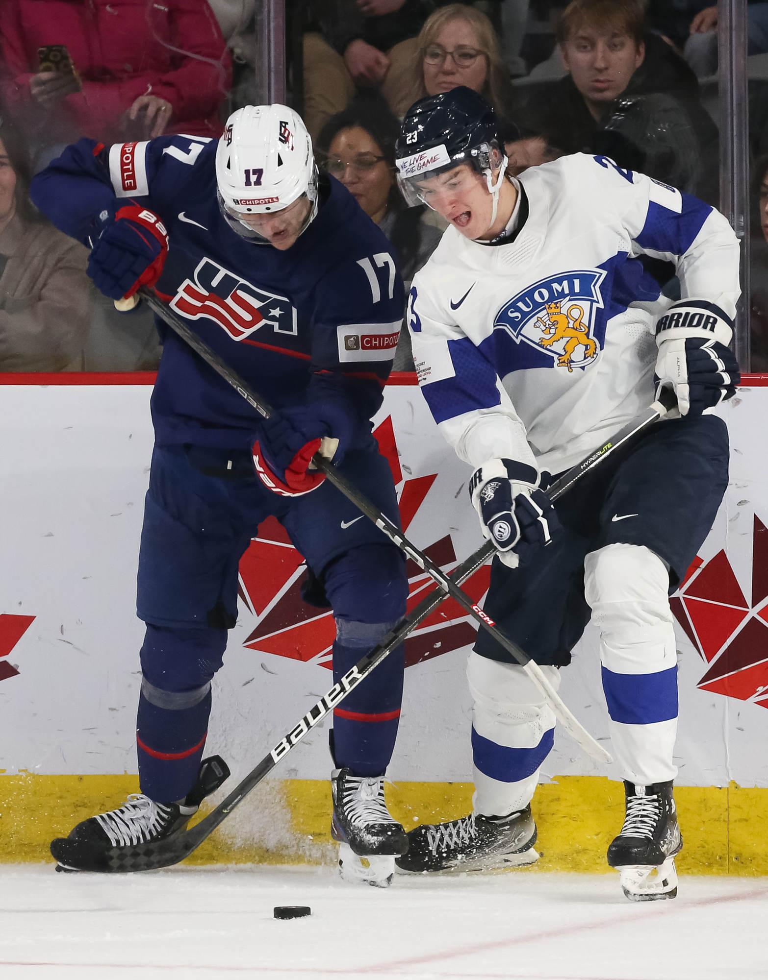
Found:
[(352, 256), (323, 277), (312, 324), (313, 384), (343, 392), (367, 419), (382, 404), (405, 305), (402, 278), (382, 241), (377, 236), (378, 251)]

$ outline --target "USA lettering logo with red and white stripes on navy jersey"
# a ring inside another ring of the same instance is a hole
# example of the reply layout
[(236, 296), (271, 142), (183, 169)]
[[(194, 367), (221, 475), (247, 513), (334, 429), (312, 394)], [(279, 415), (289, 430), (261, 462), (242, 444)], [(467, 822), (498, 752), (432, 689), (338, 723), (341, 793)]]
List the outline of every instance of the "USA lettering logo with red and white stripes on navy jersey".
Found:
[(203, 259), (194, 279), (184, 279), (171, 306), (189, 319), (207, 317), (242, 340), (262, 326), (296, 336), (296, 309), (285, 296), (258, 289), (212, 259)]

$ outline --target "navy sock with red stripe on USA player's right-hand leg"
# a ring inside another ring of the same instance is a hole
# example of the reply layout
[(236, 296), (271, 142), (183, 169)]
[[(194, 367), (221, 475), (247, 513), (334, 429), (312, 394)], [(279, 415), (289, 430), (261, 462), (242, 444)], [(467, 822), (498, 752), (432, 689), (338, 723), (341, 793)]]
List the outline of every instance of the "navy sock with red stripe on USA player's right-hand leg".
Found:
[[(336, 641), (333, 644), (333, 680), (343, 676), (365, 653), (366, 648), (347, 647)], [(333, 710), (334, 759), (339, 768), (348, 767), (356, 776), (384, 773), (394, 750), (400, 721), (404, 658), (404, 646), (395, 648), (371, 676)]]

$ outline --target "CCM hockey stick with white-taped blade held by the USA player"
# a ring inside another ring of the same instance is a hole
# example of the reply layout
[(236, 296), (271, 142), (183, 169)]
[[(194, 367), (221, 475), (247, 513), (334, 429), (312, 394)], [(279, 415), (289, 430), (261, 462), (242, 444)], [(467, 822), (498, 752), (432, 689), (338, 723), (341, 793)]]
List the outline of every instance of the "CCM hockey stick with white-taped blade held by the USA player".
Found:
[[(186, 343), (206, 362), (211, 368), (224, 378), (235, 391), (244, 398), (261, 417), (268, 418), (272, 415), (270, 406), (243, 380), (215, 351), (197, 336), (186, 323), (175, 313), (167, 303), (164, 303), (157, 294), (144, 287), (138, 290), (149, 308), (164, 320)], [(127, 301), (128, 302), (128, 301)], [(592, 759), (598, 762), (612, 761), (610, 755), (599, 745), (589, 734), (587, 729), (577, 720), (576, 716), (568, 710), (563, 700), (552, 687), (546, 675), (543, 673), (538, 663), (522, 650), (516, 643), (510, 640), (504, 633), (496, 627), (495, 621), (483, 612), (477, 603), (459, 586), (452, 581), (440, 567), (432, 562), (423, 552), (419, 551), (400, 531), (394, 521), (390, 520), (379, 508), (375, 507), (360, 491), (343, 476), (333, 463), (324, 456), (316, 453), (312, 458), (313, 464), (323, 473), (326, 478), (333, 483), (355, 507), (372, 520), (384, 535), (398, 548), (414, 561), (436, 584), (454, 599), (462, 609), (466, 610), (476, 619), (486, 631), (493, 637), (496, 643), (502, 647), (516, 662), (526, 671), (531, 680), (536, 684), (541, 695), (544, 697), (560, 724), (568, 732), (571, 738), (579, 745)]]

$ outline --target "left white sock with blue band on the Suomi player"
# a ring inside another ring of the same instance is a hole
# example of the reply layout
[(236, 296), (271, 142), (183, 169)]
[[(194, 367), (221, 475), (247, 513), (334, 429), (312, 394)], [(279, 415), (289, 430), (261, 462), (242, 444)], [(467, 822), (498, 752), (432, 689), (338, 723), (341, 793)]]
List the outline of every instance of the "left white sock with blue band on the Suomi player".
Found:
[[(557, 667), (541, 670), (557, 690)], [(555, 716), (521, 666), (473, 652), (467, 679), (475, 700), (474, 809), (486, 816), (506, 816), (531, 802), (538, 770), (552, 748)]]

